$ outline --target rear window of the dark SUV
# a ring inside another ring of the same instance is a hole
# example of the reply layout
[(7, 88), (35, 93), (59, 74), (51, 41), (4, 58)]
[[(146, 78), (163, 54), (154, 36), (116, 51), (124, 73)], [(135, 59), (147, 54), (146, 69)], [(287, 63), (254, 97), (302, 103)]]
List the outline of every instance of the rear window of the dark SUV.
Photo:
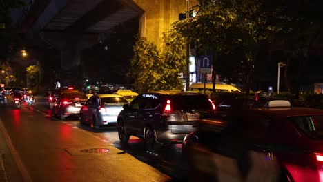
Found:
[(172, 99), (173, 110), (212, 110), (211, 102), (204, 95), (176, 95)]

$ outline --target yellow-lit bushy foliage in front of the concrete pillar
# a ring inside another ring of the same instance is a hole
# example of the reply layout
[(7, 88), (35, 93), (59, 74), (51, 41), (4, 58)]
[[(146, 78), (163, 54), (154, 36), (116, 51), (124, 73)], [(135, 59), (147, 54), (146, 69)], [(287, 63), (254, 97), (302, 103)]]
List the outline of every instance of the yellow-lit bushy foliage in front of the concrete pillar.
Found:
[(179, 73), (182, 72), (185, 61), (185, 45), (173, 32), (165, 33), (164, 40), (167, 48), (160, 52), (155, 43), (145, 37), (137, 38), (128, 72), (128, 76), (135, 80), (137, 92), (182, 90)]

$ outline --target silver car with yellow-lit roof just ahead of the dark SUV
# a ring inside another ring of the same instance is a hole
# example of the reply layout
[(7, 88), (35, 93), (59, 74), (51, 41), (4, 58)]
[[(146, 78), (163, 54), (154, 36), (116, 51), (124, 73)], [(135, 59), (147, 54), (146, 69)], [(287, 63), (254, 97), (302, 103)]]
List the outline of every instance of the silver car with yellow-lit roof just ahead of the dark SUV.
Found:
[(79, 111), (79, 122), (81, 124), (88, 123), (93, 128), (99, 128), (101, 125), (117, 123), (117, 116), (123, 105), (128, 101), (115, 94), (95, 94)]

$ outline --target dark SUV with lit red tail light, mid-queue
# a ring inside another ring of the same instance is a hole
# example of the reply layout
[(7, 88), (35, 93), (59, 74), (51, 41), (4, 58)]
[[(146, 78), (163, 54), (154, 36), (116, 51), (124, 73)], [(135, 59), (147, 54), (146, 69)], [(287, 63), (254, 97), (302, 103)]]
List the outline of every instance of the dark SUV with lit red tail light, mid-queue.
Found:
[(215, 105), (204, 94), (193, 92), (147, 92), (124, 105), (117, 119), (119, 139), (131, 135), (144, 139), (153, 149), (155, 142), (182, 142), (198, 128), (198, 121), (212, 117)]

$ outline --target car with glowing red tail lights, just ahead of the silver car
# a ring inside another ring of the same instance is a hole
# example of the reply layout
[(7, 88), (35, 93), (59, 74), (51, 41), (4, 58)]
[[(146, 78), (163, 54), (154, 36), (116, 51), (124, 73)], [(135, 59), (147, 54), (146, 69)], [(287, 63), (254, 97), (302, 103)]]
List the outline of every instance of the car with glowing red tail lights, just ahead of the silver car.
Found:
[(53, 101), (52, 114), (61, 120), (71, 115), (79, 116), (81, 104), (87, 99), (84, 92), (63, 92)]

